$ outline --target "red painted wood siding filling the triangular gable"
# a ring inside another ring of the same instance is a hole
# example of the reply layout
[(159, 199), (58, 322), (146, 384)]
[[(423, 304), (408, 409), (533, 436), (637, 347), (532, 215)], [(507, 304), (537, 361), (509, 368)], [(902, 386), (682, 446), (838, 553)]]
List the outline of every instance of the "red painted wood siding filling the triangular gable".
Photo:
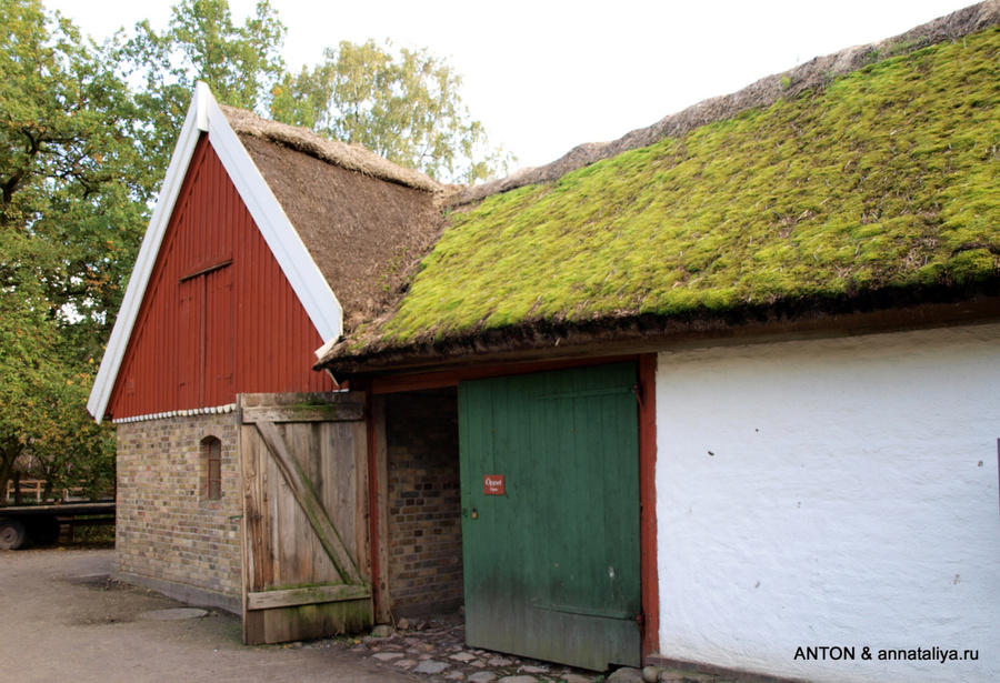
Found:
[(332, 391), (322, 345), (222, 163), (202, 137), (163, 237), (109, 412), (116, 419)]

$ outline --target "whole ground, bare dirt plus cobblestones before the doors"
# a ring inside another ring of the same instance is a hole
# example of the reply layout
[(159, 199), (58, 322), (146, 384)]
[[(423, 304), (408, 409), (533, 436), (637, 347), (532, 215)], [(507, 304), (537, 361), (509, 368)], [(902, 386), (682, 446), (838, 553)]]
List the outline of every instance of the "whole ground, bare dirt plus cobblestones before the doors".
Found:
[[(574, 670), (464, 646), (456, 614), (414, 622), (391, 637), (341, 637), (249, 647), (240, 620), (190, 610), (109, 577), (111, 549), (0, 551), (0, 681), (11, 683), (591, 683)], [(163, 611), (198, 617), (169, 620)], [(663, 671), (669, 683), (739, 683)], [(607, 683), (639, 683), (619, 670)]]

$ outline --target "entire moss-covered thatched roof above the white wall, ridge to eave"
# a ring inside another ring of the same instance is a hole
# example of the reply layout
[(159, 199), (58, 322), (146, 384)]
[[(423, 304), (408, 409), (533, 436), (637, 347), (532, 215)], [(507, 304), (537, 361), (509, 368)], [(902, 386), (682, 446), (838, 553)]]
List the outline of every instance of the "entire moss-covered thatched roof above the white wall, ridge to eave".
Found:
[(464, 193), (457, 204), (486, 197), (450, 213), (399, 300), (320, 364), (351, 374), (996, 297), (998, 23), (1000, 1), (984, 2), (578, 148), (529, 184)]

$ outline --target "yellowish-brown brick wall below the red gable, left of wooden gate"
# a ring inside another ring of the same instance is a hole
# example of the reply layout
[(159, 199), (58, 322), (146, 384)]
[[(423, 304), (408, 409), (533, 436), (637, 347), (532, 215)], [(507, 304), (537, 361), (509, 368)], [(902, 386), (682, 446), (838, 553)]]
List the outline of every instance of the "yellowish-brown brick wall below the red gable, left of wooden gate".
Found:
[[(117, 570), (126, 581), (233, 609), (240, 595), (238, 413), (118, 425)], [(222, 443), (222, 495), (208, 500), (202, 440)]]

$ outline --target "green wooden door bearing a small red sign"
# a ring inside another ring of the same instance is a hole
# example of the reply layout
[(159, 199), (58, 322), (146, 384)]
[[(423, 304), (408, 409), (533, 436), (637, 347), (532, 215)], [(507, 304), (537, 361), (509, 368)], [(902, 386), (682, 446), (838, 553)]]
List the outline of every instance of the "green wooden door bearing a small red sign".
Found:
[(621, 363), (459, 385), (470, 646), (639, 665), (634, 384)]

